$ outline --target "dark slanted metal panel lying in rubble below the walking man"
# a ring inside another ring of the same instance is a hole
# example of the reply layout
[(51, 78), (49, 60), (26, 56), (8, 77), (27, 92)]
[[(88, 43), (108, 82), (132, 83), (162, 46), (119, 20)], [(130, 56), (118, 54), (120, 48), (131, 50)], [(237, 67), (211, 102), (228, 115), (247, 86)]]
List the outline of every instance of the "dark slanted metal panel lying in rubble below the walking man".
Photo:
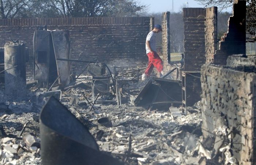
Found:
[(170, 80), (165, 78), (153, 77), (140, 91), (134, 100), (136, 106), (141, 107), (162, 107), (171, 104), (181, 105), (182, 91), (180, 80)]

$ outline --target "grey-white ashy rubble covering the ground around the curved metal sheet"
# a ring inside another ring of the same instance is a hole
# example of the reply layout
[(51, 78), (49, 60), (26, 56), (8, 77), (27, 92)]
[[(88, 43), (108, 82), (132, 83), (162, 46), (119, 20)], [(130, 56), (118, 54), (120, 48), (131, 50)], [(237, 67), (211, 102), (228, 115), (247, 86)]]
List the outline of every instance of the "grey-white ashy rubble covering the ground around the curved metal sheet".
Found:
[[(83, 83), (87, 85), (62, 91), (60, 102), (89, 128), (101, 151), (127, 164), (198, 164), (202, 135), (200, 103), (190, 107), (188, 115), (182, 115), (176, 107), (148, 111), (134, 107), (131, 99), (122, 105), (95, 103), (92, 107), (92, 91), (87, 88), (88, 82)], [(143, 83), (132, 82), (129, 87), (136, 91), (134, 86), (138, 85), (139, 90)], [(31, 87), (22, 101), (10, 101), (0, 91), (1, 164), (41, 164), (40, 146), (29, 146), (24, 136), (30, 133), (34, 141), (40, 142), (38, 116), (42, 107), (36, 104), (35, 96), (46, 91)], [(131, 93), (129, 98), (135, 98)]]

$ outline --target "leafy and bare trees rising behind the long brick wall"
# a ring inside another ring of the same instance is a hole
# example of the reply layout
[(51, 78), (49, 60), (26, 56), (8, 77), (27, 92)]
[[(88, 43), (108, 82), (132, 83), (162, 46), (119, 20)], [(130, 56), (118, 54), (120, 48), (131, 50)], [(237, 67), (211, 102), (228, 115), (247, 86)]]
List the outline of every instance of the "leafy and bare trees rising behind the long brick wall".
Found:
[(0, 17), (123, 17), (139, 16), (146, 8), (135, 0), (0, 0)]

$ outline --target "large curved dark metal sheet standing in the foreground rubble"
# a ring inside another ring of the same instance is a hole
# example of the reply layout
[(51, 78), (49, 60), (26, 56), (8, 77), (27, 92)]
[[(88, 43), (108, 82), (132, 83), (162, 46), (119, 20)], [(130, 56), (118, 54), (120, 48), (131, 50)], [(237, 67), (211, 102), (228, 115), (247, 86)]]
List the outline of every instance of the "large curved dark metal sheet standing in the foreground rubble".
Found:
[(39, 119), (42, 164), (123, 164), (99, 151), (88, 128), (54, 97), (45, 104)]

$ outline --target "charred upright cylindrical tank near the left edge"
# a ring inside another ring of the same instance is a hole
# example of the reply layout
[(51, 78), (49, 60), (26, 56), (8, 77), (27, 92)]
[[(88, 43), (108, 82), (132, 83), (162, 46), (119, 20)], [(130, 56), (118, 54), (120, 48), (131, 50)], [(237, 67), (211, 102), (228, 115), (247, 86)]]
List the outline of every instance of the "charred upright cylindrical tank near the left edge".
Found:
[(26, 55), (24, 43), (5, 43), (4, 69), (6, 70), (4, 73), (5, 94), (12, 97), (26, 96)]

